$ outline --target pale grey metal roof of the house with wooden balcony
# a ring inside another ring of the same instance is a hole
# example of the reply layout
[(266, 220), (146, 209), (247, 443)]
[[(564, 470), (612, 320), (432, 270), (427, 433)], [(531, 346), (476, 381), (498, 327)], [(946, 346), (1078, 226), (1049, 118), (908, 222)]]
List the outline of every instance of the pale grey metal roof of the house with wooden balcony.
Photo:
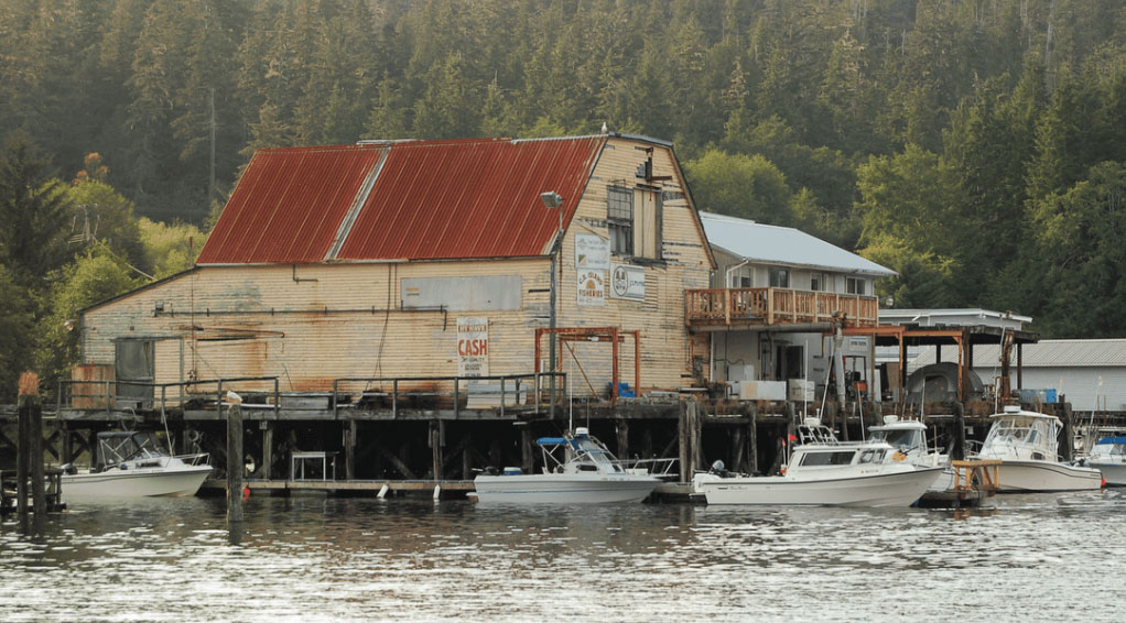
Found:
[(895, 271), (793, 227), (700, 213), (713, 246), (754, 262), (892, 277)]

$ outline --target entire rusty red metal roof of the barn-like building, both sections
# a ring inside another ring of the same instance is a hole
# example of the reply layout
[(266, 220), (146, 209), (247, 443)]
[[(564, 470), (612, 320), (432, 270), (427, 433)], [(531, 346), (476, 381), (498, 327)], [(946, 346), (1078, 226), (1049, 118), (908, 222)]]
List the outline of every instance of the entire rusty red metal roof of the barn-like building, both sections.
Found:
[[(198, 263), (540, 255), (558, 213), (539, 195), (563, 197), (566, 227), (605, 142), (491, 138), (258, 152)], [(365, 183), (369, 175), (374, 183)], [(343, 238), (333, 244), (338, 234)]]

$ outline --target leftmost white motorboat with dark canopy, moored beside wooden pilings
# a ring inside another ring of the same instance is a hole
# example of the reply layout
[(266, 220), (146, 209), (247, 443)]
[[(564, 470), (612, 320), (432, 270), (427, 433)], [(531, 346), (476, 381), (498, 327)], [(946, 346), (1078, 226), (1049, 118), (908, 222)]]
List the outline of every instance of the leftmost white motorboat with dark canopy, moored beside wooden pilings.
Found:
[(154, 433), (98, 433), (97, 460), (87, 471), (66, 469), (63, 500), (191, 496), (212, 472), (206, 454), (173, 457)]

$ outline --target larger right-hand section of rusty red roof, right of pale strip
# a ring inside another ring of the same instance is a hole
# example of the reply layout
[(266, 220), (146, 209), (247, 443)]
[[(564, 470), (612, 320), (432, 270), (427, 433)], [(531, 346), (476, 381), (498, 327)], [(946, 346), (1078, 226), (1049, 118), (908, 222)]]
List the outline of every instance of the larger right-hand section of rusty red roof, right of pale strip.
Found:
[(397, 144), (338, 260), (539, 255), (558, 227), (542, 192), (563, 197), (564, 227), (604, 137)]

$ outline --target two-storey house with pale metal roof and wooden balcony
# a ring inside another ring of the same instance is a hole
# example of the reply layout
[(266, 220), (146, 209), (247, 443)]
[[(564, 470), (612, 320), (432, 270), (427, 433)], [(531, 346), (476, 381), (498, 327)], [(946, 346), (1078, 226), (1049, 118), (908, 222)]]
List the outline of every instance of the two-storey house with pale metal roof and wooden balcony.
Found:
[[(876, 326), (875, 282), (895, 271), (793, 227), (709, 213), (700, 220), (717, 269), (709, 296), (687, 292), (686, 317), (712, 333), (712, 378), (733, 388), (807, 379), (820, 394), (834, 347), (826, 333)], [(870, 338), (846, 337), (841, 352), (846, 370), (866, 381)]]

